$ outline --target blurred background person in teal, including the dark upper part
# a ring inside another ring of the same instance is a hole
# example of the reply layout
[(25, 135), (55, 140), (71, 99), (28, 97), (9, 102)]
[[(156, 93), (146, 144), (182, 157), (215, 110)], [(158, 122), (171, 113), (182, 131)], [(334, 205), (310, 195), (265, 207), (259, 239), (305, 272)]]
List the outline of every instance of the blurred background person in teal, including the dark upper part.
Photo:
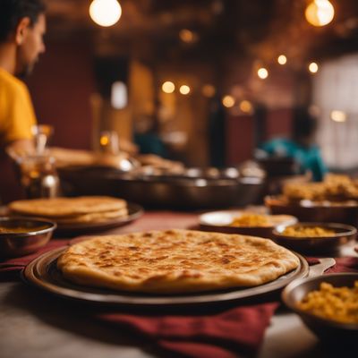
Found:
[(291, 139), (276, 138), (260, 146), (269, 158), (294, 158), (300, 172), (311, 172), (313, 181), (323, 180), (327, 167), (315, 144), (317, 118), (308, 108), (295, 107)]

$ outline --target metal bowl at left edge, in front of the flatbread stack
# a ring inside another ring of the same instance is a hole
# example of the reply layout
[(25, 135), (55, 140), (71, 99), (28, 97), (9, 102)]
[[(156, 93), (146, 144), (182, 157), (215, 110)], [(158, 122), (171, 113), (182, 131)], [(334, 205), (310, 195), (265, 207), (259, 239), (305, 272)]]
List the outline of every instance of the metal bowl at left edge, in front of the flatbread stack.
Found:
[[(55, 228), (55, 223), (41, 218), (0, 217), (0, 257), (18, 257), (38, 251), (50, 240)], [(8, 232), (2, 232), (4, 230)]]

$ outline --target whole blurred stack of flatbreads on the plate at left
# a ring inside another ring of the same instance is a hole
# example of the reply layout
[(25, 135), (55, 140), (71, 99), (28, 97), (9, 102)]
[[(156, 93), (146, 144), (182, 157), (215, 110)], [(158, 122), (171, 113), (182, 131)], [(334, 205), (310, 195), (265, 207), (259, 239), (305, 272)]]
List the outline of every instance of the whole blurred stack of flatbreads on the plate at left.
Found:
[(9, 204), (12, 213), (47, 217), (59, 225), (103, 222), (127, 217), (127, 203), (108, 196), (17, 200)]

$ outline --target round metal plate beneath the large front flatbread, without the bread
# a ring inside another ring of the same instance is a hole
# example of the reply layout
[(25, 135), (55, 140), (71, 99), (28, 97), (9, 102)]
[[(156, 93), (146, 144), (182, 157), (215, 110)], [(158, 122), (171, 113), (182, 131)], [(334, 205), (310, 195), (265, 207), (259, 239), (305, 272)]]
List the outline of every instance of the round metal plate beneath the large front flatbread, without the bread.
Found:
[(49, 251), (31, 261), (22, 273), (24, 281), (48, 293), (81, 302), (101, 303), (105, 305), (168, 307), (234, 301), (242, 302), (246, 299), (250, 299), (252, 302), (254, 298), (259, 296), (277, 292), (296, 278), (307, 277), (309, 273), (307, 261), (301, 255), (296, 254), (300, 260), (299, 267), (265, 285), (210, 291), (199, 294), (138, 294), (72, 284), (56, 268), (56, 261), (65, 249), (63, 247)]

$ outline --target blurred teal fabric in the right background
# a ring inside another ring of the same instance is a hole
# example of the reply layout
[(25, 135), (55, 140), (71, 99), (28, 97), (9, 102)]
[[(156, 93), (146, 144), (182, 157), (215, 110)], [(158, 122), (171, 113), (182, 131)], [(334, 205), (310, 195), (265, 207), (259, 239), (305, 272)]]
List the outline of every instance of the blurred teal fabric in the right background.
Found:
[(266, 151), (270, 157), (294, 158), (301, 166), (302, 173), (311, 171), (312, 179), (316, 182), (321, 181), (327, 172), (320, 149), (316, 145), (303, 147), (294, 141), (278, 138), (262, 144), (260, 149)]

